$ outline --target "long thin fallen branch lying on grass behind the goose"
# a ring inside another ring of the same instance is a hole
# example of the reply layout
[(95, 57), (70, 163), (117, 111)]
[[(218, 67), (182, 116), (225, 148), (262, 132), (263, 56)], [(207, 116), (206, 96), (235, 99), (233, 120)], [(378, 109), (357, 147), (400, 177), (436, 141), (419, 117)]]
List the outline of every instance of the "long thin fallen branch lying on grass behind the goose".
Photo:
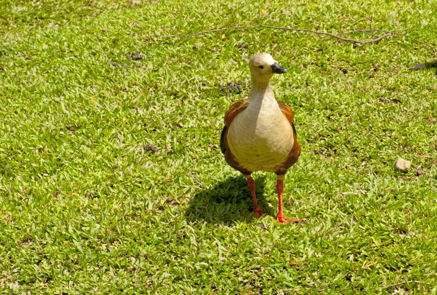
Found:
[[(420, 41), (418, 39), (415, 39), (413, 37), (410, 37), (410, 36), (408, 36), (406, 34), (394, 32), (394, 31), (376, 30), (376, 29), (371, 29), (371, 30), (358, 30), (357, 29), (357, 30), (354, 30), (354, 31), (342, 32), (342, 33), (338, 33), (338, 34), (331, 34), (331, 33), (327, 33), (327, 32), (314, 31), (314, 30), (309, 30), (309, 29), (296, 29), (296, 28), (288, 28), (288, 27), (275, 27), (275, 26), (268, 26), (268, 25), (256, 25), (256, 26), (233, 26), (233, 27), (220, 28), (220, 29), (215, 29), (215, 30), (200, 31), (200, 32), (196, 32), (196, 33), (192, 33), (192, 34), (188, 34), (188, 35), (167, 35), (167, 36), (157, 35), (156, 37), (159, 37), (159, 38), (187, 38), (187, 37), (193, 37), (193, 36), (197, 36), (197, 35), (201, 35), (201, 34), (205, 34), (205, 33), (214, 33), (214, 32), (227, 31), (227, 30), (232, 30), (232, 29), (245, 30), (245, 29), (253, 29), (253, 28), (269, 28), (269, 29), (275, 29), (275, 30), (310, 32), (310, 33), (314, 33), (314, 34), (330, 36), (332, 38), (336, 38), (336, 39), (339, 39), (339, 40), (344, 41), (344, 42), (351, 42), (351, 43), (359, 45), (359, 46), (362, 46), (362, 45), (365, 45), (365, 44), (369, 44), (369, 43), (378, 42), (381, 39), (386, 38), (386, 37), (390, 36), (391, 34), (394, 34), (394, 35), (401, 35), (401, 36), (408, 37), (408, 38), (410, 38), (412, 40), (415, 40), (416, 42), (419, 42), (422, 45), (430, 47), (431, 49), (433, 49), (433, 51), (437, 51), (437, 49), (432, 47), (431, 45), (426, 44), (426, 43), (424, 43), (424, 42), (422, 42), (422, 41)], [(383, 35), (376, 35), (376, 34), (372, 34), (371, 33), (371, 32), (376, 32), (376, 31), (384, 32), (385, 34), (383, 34)], [(370, 40), (365, 40), (365, 41), (360, 41), (360, 40), (354, 40), (354, 39), (349, 39), (349, 38), (341, 37), (341, 35), (355, 33), (355, 32), (362, 32), (362, 33), (371, 35), (371, 36), (376, 37), (376, 38), (370, 39)]]

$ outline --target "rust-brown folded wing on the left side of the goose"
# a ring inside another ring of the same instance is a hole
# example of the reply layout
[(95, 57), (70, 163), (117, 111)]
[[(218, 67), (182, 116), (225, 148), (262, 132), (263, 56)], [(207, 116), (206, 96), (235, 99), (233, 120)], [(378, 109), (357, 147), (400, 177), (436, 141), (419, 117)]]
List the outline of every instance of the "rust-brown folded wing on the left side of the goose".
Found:
[(232, 155), (231, 151), (228, 148), (227, 134), (228, 134), (228, 128), (231, 125), (232, 121), (239, 113), (245, 110), (248, 105), (249, 105), (249, 100), (242, 99), (240, 101), (237, 101), (231, 106), (231, 108), (225, 114), (225, 118), (224, 118), (225, 125), (221, 130), (221, 136), (220, 136), (220, 150), (225, 155), (226, 162), (229, 164), (229, 166), (231, 166), (235, 170), (240, 171), (244, 175), (250, 175), (252, 172), (242, 168), (238, 164), (238, 162), (235, 161), (234, 156)]

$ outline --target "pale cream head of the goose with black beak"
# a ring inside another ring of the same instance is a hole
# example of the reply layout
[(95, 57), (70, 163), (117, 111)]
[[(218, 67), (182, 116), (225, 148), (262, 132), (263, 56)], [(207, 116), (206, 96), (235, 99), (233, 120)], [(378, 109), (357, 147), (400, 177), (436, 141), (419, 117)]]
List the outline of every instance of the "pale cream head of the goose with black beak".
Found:
[(249, 61), (252, 78), (269, 80), (273, 74), (285, 74), (287, 69), (276, 62), (269, 53), (258, 53)]

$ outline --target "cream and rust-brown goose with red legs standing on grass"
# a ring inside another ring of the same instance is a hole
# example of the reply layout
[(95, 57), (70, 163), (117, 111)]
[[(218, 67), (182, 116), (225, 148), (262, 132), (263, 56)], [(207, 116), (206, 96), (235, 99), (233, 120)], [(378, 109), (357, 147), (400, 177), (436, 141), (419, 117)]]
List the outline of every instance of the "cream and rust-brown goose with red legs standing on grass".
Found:
[(256, 201), (251, 175), (255, 171), (266, 171), (277, 175), (279, 209), (276, 220), (300, 222), (302, 219), (286, 218), (282, 206), (286, 171), (301, 154), (293, 124), (294, 114), (289, 106), (275, 99), (269, 82), (274, 74), (284, 74), (287, 70), (265, 52), (250, 59), (249, 69), (250, 100), (237, 101), (226, 112), (220, 149), (229, 166), (247, 179), (255, 217), (261, 217), (263, 210)]

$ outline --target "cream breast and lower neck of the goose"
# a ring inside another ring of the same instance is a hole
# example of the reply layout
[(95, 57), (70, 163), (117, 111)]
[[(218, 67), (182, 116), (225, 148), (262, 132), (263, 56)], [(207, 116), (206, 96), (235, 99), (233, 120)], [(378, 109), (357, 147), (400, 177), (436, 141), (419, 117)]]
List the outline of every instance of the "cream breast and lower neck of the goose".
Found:
[(276, 171), (294, 144), (293, 129), (269, 84), (252, 88), (248, 107), (235, 117), (227, 136), (235, 160), (248, 171)]

